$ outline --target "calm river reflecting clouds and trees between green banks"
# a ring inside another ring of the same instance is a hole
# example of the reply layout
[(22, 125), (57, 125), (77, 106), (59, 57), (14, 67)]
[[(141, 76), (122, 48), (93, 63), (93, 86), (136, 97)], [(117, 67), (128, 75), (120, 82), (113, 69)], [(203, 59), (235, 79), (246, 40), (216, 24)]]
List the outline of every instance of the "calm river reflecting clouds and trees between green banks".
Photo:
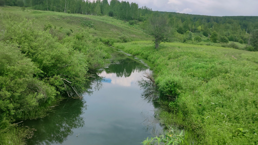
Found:
[(63, 100), (46, 117), (25, 120), (35, 129), (28, 144), (141, 144), (162, 130), (139, 84), (149, 71), (119, 54), (97, 73), (82, 100)]

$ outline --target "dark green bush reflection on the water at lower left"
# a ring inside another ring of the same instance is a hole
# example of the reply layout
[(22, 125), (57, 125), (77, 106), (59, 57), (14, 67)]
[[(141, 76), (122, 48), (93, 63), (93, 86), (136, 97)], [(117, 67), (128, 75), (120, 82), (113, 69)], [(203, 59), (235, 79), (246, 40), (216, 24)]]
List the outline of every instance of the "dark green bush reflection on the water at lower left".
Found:
[(36, 129), (32, 138), (28, 139), (28, 144), (62, 143), (68, 135), (73, 134), (72, 129), (84, 125), (83, 117), (80, 116), (84, 109), (86, 109), (85, 101), (67, 99), (48, 116), (24, 121), (24, 125)]

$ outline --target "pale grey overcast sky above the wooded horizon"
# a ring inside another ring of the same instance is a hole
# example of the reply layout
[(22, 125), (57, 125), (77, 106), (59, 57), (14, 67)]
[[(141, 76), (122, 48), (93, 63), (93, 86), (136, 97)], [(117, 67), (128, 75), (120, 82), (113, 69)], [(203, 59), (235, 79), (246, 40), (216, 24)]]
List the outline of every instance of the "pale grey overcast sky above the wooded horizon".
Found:
[[(110, 0), (109, 0), (110, 1)], [(119, 0), (121, 1), (121, 0)], [(213, 16), (258, 16), (258, 0), (123, 0), (152, 10)]]

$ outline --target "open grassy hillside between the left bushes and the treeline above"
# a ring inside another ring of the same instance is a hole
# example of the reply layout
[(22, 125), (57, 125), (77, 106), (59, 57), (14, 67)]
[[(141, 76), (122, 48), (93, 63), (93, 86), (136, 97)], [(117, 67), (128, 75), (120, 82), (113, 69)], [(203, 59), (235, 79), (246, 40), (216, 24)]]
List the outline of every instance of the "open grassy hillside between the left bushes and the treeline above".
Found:
[(38, 27), (44, 27), (48, 23), (57, 28), (63, 27), (79, 31), (80, 28), (92, 28), (91, 34), (97, 37), (119, 41), (122, 36), (129, 40), (150, 40), (138, 24), (129, 25), (128, 22), (109, 16), (95, 16), (83, 14), (68, 14), (54, 11), (41, 11), (33, 9), (22, 10), (20, 7), (0, 7), (0, 12), (14, 13), (26, 18), (34, 18)]

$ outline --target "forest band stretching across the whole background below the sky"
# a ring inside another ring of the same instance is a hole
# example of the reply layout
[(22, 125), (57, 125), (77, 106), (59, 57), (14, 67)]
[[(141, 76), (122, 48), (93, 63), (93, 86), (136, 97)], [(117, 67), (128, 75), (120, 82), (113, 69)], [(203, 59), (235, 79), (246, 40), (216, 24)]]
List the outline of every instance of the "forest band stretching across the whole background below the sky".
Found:
[[(0, 0), (0, 5), (31, 7), (38, 10), (80, 13), (88, 15), (107, 15), (128, 21), (148, 22), (156, 11), (137, 3), (111, 0)], [(191, 43), (194, 41), (212, 41), (223, 43), (224, 47), (257, 51), (257, 16), (207, 16), (182, 14), (176, 12), (158, 12), (167, 18), (169, 34), (166, 41)], [(144, 29), (146, 25), (141, 24)], [(210, 39), (211, 36), (211, 39)], [(213, 37), (213, 38), (212, 38)], [(237, 42), (237, 43), (234, 43)], [(242, 45), (245, 44), (245, 45)]]

